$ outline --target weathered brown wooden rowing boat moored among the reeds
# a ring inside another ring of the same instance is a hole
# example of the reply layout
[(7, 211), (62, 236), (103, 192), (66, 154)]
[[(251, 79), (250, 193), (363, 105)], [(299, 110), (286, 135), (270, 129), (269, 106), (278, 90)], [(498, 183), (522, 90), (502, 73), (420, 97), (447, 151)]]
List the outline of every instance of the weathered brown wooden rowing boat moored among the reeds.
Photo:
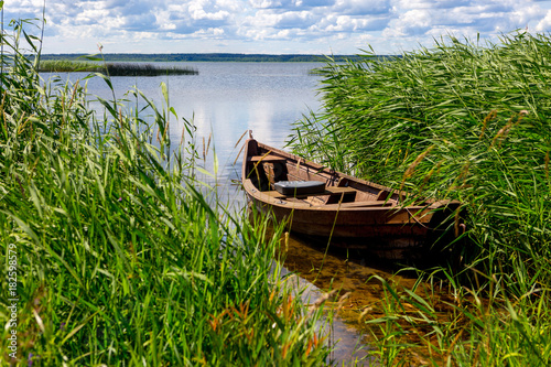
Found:
[[(437, 252), (457, 235), (458, 202), (412, 203), (407, 193), (328, 170), (253, 139), (245, 144), (241, 181), (247, 196), (261, 212), (285, 220), (292, 234), (391, 259)], [(435, 247), (436, 240), (442, 246)]]

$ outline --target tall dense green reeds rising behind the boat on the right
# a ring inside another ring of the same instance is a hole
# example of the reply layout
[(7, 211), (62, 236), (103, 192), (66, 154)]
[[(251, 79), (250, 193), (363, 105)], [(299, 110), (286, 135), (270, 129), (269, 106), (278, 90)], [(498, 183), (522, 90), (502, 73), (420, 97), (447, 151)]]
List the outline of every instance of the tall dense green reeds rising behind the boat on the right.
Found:
[(370, 181), (458, 198), (488, 272), (538, 268), (551, 255), (550, 51), (547, 36), (520, 32), (329, 62), (323, 110), (296, 123), (290, 144)]

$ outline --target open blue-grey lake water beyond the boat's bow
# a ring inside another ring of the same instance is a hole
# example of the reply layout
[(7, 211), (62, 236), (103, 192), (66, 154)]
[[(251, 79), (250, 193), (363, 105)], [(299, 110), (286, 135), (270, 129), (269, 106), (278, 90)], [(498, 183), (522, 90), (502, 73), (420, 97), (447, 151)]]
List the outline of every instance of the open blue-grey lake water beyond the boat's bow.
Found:
[[(199, 145), (203, 139), (208, 142), (212, 134), (210, 148), (215, 149), (220, 166), (217, 180), (229, 191), (220, 194), (227, 197), (235, 196), (227, 183), (240, 177), (240, 162), (234, 163), (240, 147), (236, 150), (235, 144), (244, 132), (251, 130), (257, 140), (283, 148), (292, 123), (309, 109), (317, 110), (320, 107), (316, 91), (320, 77), (310, 72), (322, 63), (203, 62), (165, 65), (193, 67), (199, 74), (114, 77), (116, 97), (123, 98), (126, 91), (137, 86), (160, 108), (164, 104), (160, 85), (165, 83), (169, 102), (179, 116), (179, 119), (171, 117), (171, 139), (180, 142), (184, 127), (182, 118), (193, 120)], [(74, 73), (71, 78), (85, 76), (84, 73)], [(106, 99), (112, 98), (107, 84), (100, 78), (88, 80), (88, 91)], [(212, 154), (206, 169), (209, 172), (213, 170)]]

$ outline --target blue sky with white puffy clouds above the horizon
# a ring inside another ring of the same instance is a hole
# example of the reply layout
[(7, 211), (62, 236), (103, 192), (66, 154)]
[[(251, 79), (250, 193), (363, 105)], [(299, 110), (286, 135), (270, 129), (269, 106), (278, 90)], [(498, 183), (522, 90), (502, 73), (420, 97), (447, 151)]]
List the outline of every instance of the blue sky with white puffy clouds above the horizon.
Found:
[(537, 0), (17, 0), (4, 24), (43, 10), (54, 54), (400, 54), (450, 34), (551, 31), (551, 1)]

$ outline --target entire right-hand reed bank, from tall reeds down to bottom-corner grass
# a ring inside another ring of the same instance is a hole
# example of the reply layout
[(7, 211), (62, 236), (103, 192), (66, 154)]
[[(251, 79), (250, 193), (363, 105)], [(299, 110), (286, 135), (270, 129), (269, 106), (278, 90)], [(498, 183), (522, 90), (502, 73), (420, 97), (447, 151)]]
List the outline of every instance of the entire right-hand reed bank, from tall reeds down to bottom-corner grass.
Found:
[[(323, 110), (296, 122), (295, 152), (460, 199), (467, 213), (466, 244), (451, 245), (460, 268), (434, 274), (474, 303), (451, 302), (456, 319), (443, 322), (434, 305), (389, 288), (377, 336), (388, 365), (407, 365), (398, 349), (411, 346), (401, 336), (412, 333), (421, 335), (414, 345), (430, 346), (423, 360), (432, 365), (549, 365), (550, 53), (543, 34), (516, 32), (495, 44), (451, 36), (433, 48), (393, 58), (369, 51), (320, 71)], [(430, 327), (423, 333), (420, 324)]]

